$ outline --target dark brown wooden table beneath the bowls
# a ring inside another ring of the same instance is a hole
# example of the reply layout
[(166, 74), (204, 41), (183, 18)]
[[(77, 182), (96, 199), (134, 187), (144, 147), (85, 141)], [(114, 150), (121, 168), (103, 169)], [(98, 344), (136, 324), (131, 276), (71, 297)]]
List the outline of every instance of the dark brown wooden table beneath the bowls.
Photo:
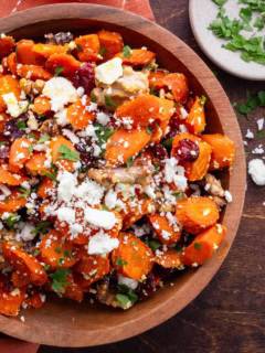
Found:
[[(130, 0), (134, 1), (134, 0)], [(264, 83), (235, 78), (216, 68), (200, 51), (192, 34), (188, 0), (151, 0), (159, 24), (189, 44), (218, 73), (231, 101)], [(264, 68), (263, 68), (264, 69)], [(240, 117), (243, 135), (256, 132), (254, 115)], [(261, 140), (248, 143), (248, 150)], [(264, 142), (264, 141), (263, 141)], [(250, 153), (248, 160), (254, 158)], [(91, 349), (42, 346), (39, 353), (264, 353), (265, 352), (265, 188), (247, 181), (245, 208), (234, 245), (222, 268), (203, 292), (179, 314), (134, 339)]]

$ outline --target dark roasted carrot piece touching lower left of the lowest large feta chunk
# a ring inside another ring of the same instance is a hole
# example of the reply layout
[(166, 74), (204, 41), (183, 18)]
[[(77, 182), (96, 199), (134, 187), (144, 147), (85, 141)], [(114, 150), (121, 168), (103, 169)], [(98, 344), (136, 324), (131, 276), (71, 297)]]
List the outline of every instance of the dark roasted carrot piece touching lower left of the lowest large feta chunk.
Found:
[(109, 260), (106, 255), (88, 255), (85, 248), (81, 248), (77, 258), (80, 260), (74, 269), (85, 276), (86, 281), (83, 284), (87, 287), (109, 272)]

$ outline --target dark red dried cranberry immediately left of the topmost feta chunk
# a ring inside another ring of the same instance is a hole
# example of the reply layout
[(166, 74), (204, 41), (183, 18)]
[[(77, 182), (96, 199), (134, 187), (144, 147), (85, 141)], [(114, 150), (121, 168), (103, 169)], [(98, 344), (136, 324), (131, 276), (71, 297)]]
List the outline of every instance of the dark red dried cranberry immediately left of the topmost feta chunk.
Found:
[(85, 94), (89, 95), (95, 87), (95, 69), (92, 64), (85, 64), (77, 68), (73, 74), (71, 81), (75, 88), (83, 87)]

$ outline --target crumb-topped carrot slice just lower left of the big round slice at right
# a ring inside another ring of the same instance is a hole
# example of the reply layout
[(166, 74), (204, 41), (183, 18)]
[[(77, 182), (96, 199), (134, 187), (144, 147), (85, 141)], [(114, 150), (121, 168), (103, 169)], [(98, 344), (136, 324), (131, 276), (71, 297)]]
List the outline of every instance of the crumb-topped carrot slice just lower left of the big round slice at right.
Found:
[(162, 244), (172, 245), (179, 242), (181, 229), (177, 223), (170, 224), (169, 220), (159, 213), (149, 214), (147, 217)]

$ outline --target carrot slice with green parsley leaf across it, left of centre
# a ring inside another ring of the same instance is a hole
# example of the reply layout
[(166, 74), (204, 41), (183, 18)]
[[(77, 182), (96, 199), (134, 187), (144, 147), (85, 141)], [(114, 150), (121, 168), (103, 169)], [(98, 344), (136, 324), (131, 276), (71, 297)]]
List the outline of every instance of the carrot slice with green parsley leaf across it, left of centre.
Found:
[(76, 152), (73, 143), (70, 140), (66, 140), (63, 136), (56, 136), (52, 139), (50, 147), (52, 150), (52, 161), (56, 167), (59, 169), (65, 169), (68, 172), (73, 171), (74, 161), (62, 159), (63, 156), (60, 151), (62, 148), (66, 148), (67, 150)]

